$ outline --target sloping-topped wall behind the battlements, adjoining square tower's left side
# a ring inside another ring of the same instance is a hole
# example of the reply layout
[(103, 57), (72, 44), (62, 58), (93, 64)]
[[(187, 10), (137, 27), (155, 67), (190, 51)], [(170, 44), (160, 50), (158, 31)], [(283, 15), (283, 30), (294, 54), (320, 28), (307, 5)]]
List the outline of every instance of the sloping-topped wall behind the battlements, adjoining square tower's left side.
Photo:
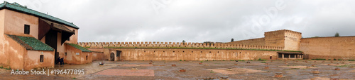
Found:
[(266, 46), (264, 38), (233, 41), (233, 42), (229, 42), (228, 44), (244, 44), (244, 45)]

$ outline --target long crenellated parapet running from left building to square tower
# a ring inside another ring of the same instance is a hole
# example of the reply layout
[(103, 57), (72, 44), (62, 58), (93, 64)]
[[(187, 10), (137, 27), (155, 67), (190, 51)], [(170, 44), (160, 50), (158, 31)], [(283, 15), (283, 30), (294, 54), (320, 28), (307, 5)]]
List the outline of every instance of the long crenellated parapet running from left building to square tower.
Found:
[(195, 43), (195, 42), (78, 42), (84, 48), (238, 48), (238, 49), (263, 49), (283, 50), (278, 46), (256, 46), (228, 43)]

